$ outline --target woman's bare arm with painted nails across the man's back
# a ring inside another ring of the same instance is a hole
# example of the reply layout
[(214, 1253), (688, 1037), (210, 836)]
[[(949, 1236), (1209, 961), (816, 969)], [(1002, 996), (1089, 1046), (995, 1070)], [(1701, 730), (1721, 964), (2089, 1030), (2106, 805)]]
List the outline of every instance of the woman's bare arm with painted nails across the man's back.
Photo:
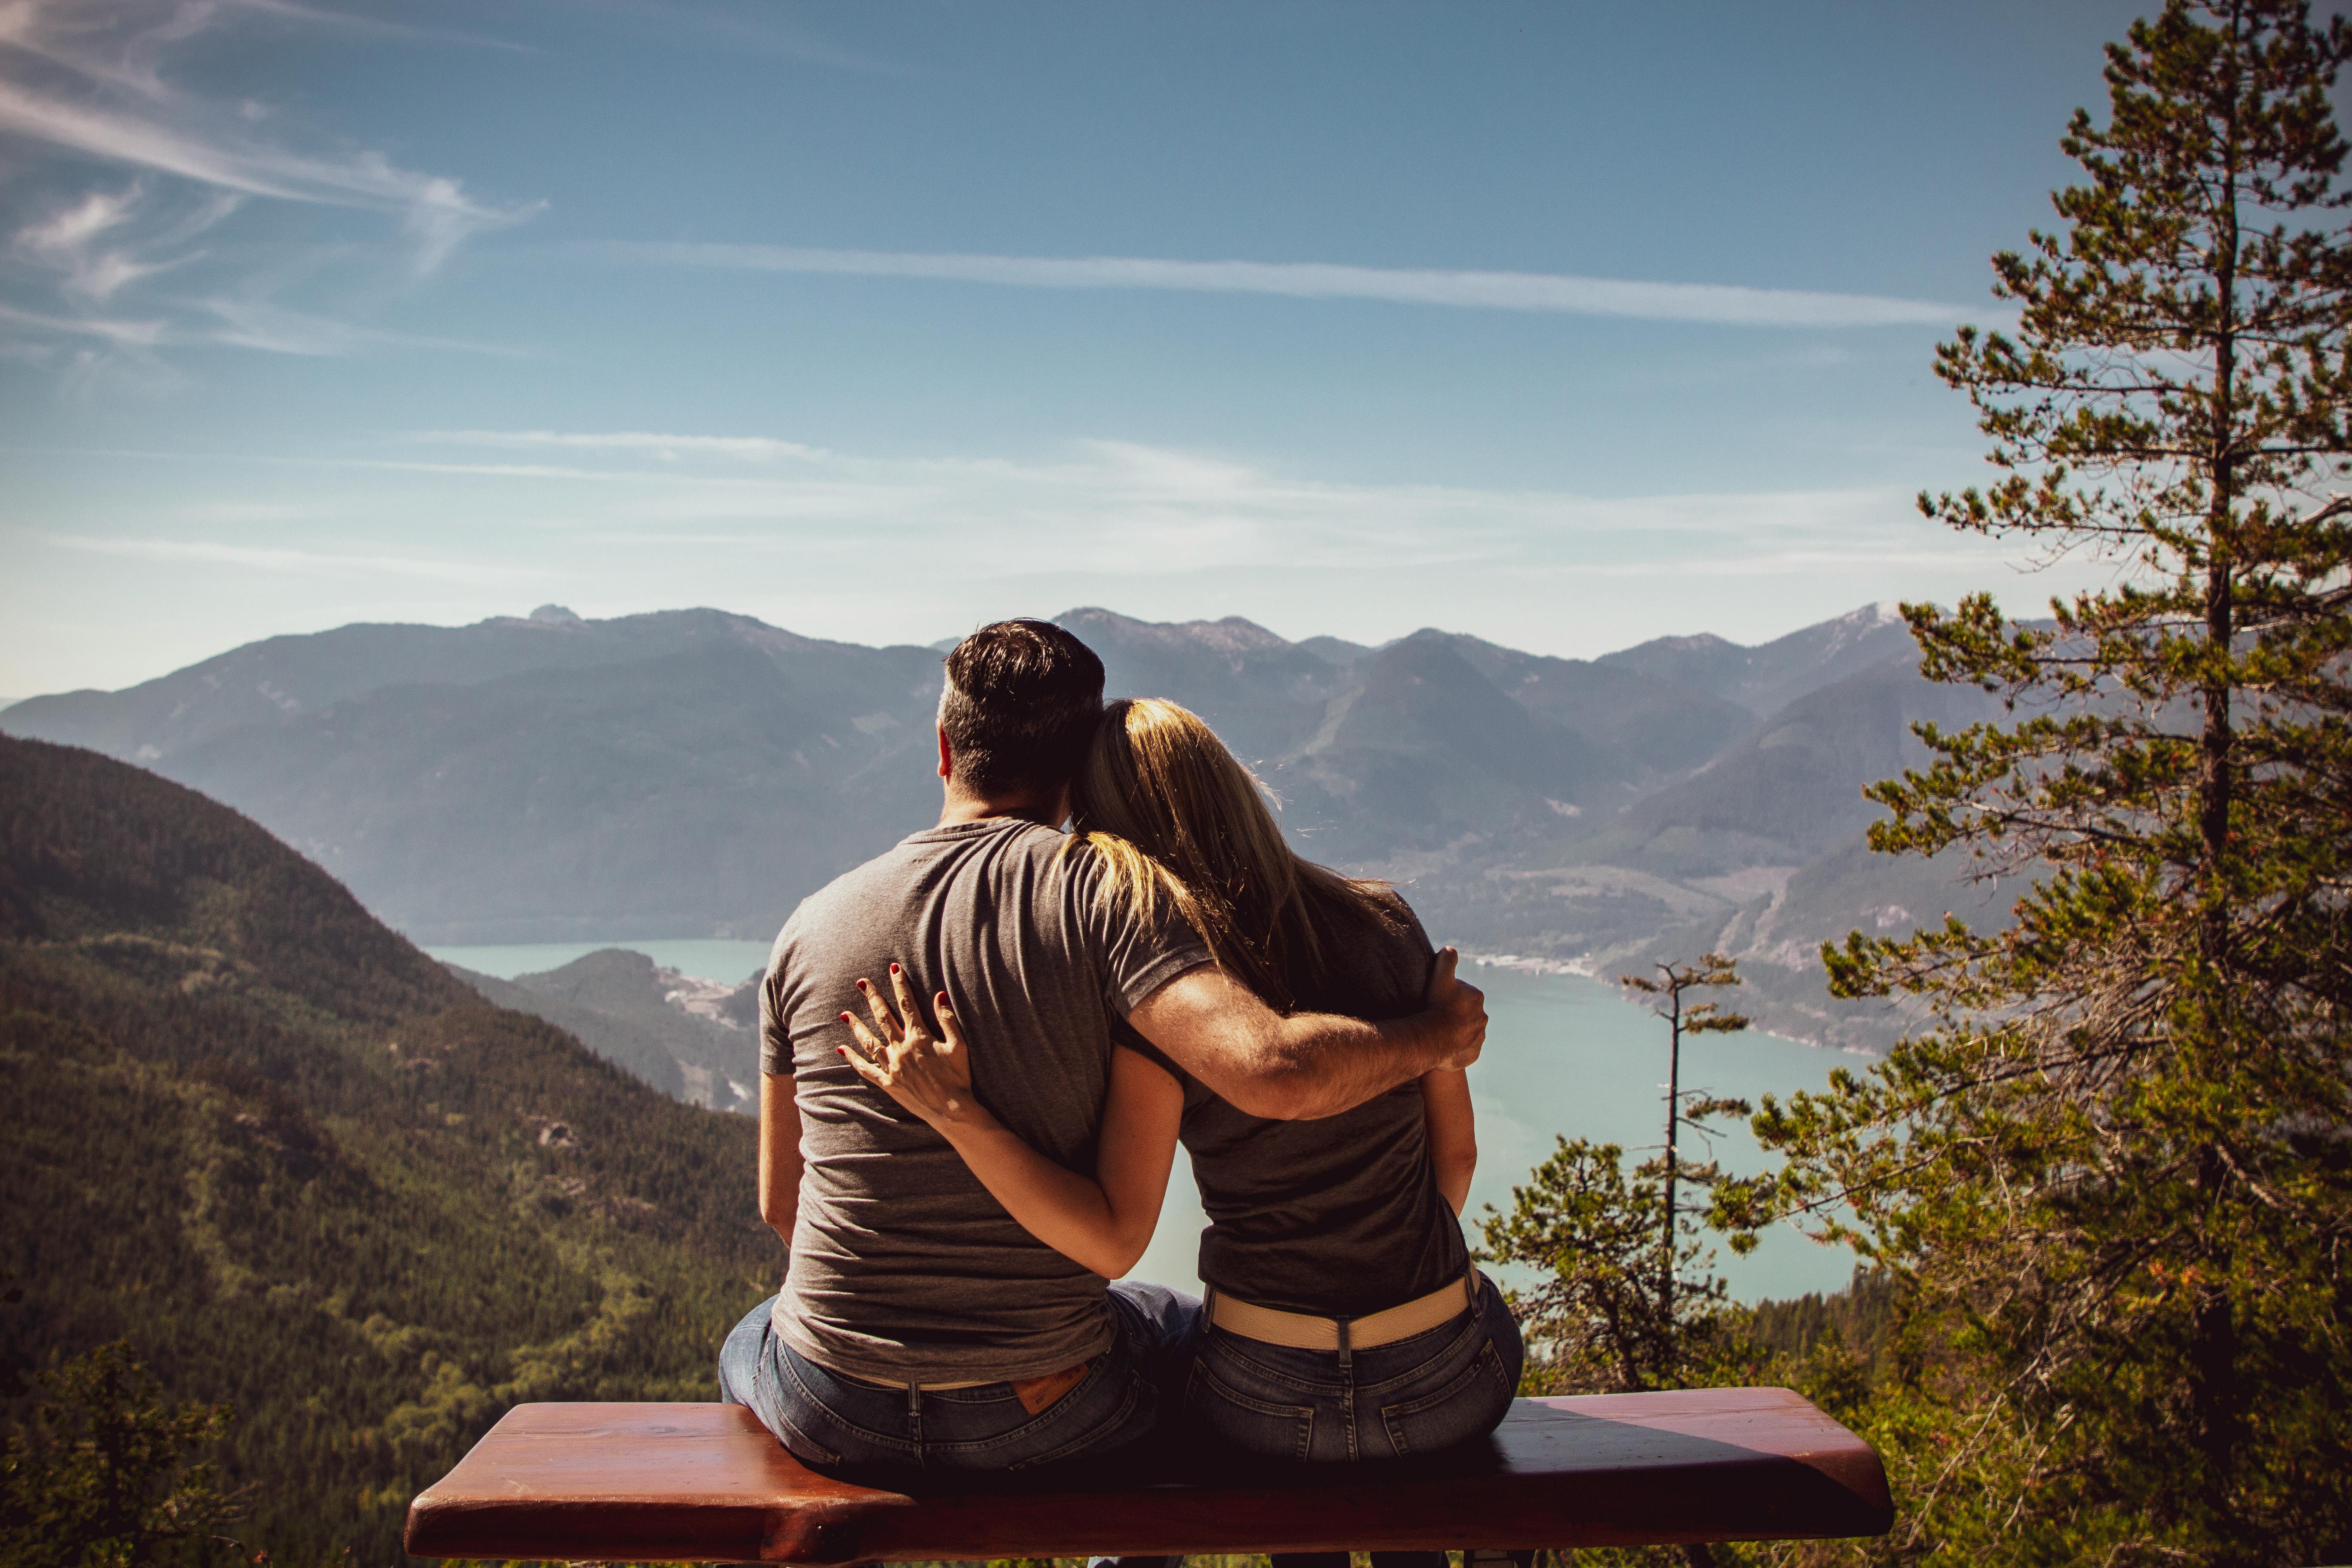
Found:
[(1183, 1088), (1176, 1079), (1134, 1051), (1112, 1048), (1110, 1095), (1103, 1100), (1094, 1178), (1087, 1178), (1028, 1147), (971, 1098), (971, 1060), (948, 992), (934, 997), (938, 1037), (931, 1037), (906, 971), (896, 964), (896, 1013), (866, 980), (858, 980), (858, 990), (875, 1030), (842, 1013), (858, 1037), (858, 1051), (840, 1048), (858, 1077), (955, 1145), (988, 1194), (1028, 1234), (1105, 1279), (1136, 1267), (1160, 1225), (1160, 1201), (1176, 1159), (1176, 1128), (1183, 1121)]

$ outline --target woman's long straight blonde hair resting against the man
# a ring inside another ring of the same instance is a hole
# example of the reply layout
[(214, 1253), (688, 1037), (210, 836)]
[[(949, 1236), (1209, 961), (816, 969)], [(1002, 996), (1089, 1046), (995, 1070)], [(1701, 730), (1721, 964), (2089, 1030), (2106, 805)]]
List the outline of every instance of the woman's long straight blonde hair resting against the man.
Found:
[(1174, 907), (1268, 1006), (1291, 1011), (1331, 938), (1397, 929), (1381, 882), (1352, 882), (1282, 842), (1270, 790), (1200, 715), (1150, 696), (1103, 708), (1070, 785), (1073, 849), (1105, 867), (1096, 896), (1148, 922)]

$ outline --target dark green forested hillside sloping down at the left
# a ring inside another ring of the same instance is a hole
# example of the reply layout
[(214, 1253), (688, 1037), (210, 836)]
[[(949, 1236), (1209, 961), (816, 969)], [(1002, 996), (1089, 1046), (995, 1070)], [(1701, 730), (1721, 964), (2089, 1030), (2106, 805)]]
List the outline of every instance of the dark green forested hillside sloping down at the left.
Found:
[(127, 1338), (233, 1401), (235, 1533), (275, 1561), (393, 1559), (520, 1399), (708, 1399), (781, 1262), (746, 1119), (485, 1006), (226, 806), (31, 741), (0, 1081), (12, 1371)]

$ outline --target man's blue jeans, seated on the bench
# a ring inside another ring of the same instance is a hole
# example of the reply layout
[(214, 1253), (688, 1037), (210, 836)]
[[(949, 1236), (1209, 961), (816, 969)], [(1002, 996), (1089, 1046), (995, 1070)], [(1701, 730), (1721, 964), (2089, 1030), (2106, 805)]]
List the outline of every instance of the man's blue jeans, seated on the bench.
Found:
[(1200, 1319), (1181, 1291), (1110, 1286), (1110, 1349), (1030, 1415), (1009, 1382), (910, 1389), (828, 1373), (774, 1331), (774, 1305), (753, 1307), (720, 1347), (720, 1399), (748, 1406), (811, 1469), (1028, 1469), (1127, 1448), (1164, 1401), (1174, 1408)]

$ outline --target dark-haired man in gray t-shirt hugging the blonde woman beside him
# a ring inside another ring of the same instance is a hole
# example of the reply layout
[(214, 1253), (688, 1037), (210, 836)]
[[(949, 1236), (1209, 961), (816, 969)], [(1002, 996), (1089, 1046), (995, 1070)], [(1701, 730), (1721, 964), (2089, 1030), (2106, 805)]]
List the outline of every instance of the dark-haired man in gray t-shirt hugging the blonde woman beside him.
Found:
[(1101, 722), (1103, 663), (1047, 621), (948, 656), (938, 825), (837, 877), (776, 936), (760, 987), (760, 1213), (793, 1248), (783, 1291), (727, 1338), (720, 1385), (809, 1465), (1021, 1469), (1120, 1448), (1197, 1302), (1110, 1286), (1004, 1213), (962, 1157), (840, 1058), (858, 980), (906, 964), (953, 990), (971, 1088), (1049, 1159), (1094, 1168), (1112, 1020), (1261, 1117), (1329, 1117), (1486, 1032), (1475, 987), (1371, 1025), (1282, 1018), (1200, 938), (1098, 905), (1063, 853), (1068, 783)]

